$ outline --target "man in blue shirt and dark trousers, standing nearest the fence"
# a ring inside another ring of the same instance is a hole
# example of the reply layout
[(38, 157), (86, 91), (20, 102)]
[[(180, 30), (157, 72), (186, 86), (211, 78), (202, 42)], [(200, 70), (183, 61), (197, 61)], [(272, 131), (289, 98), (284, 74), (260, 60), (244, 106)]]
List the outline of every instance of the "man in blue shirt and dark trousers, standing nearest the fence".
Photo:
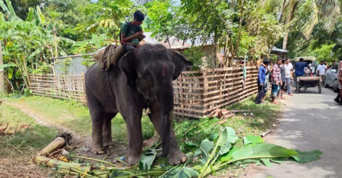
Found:
[(256, 104), (261, 103), (262, 98), (264, 98), (264, 95), (266, 93), (265, 81), (268, 80), (268, 78), (266, 78), (266, 75), (267, 73), (269, 73), (269, 71), (267, 70), (267, 66), (269, 66), (269, 60), (264, 59), (263, 63), (261, 63), (261, 66), (258, 72), (258, 95), (257, 95), (257, 100), (255, 101)]

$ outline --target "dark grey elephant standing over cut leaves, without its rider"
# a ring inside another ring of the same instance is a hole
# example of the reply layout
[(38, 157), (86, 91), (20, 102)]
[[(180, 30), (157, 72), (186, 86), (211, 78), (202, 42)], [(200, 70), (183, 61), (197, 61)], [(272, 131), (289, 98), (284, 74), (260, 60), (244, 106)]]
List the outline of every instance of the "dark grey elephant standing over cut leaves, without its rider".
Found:
[(148, 117), (162, 140), (160, 156), (168, 157), (172, 165), (185, 162), (187, 156), (180, 151), (172, 129), (172, 80), (191, 67), (191, 61), (161, 44), (138, 46), (108, 70), (93, 64), (85, 75), (93, 151), (104, 154), (113, 147), (111, 120), (120, 112), (128, 130), (127, 160), (137, 164), (142, 154), (142, 110), (150, 108)]

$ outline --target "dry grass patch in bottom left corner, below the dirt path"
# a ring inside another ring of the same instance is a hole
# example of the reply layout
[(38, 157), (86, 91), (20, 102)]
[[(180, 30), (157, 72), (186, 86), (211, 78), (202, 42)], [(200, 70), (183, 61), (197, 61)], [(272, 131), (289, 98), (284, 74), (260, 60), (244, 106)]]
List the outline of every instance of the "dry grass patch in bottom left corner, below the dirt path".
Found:
[(38, 125), (16, 108), (0, 105), (0, 127), (6, 127), (6, 123), (9, 127), (5, 131), (14, 134), (0, 135), (0, 177), (52, 176), (49, 169), (32, 166), (31, 160), (56, 137), (57, 130)]

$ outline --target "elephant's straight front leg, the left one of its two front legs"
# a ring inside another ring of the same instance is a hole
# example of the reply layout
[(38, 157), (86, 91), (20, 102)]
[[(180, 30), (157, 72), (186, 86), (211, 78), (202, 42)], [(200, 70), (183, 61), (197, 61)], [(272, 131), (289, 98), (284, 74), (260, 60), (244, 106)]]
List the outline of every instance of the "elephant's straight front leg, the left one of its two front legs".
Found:
[[(139, 117), (140, 116), (140, 117)], [(131, 115), (125, 117), (127, 131), (128, 131), (128, 144), (129, 156), (128, 164), (138, 164), (140, 155), (142, 153), (142, 128), (141, 128), (141, 114), (138, 116)]]

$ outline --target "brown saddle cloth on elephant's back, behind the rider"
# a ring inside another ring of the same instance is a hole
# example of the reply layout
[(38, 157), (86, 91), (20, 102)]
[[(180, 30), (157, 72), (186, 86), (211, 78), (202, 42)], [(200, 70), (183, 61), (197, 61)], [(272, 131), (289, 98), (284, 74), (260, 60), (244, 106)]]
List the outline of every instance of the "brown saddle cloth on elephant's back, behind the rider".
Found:
[(123, 46), (108, 45), (95, 55), (95, 60), (102, 70), (108, 70), (111, 64), (115, 65), (116, 61), (125, 54)]

